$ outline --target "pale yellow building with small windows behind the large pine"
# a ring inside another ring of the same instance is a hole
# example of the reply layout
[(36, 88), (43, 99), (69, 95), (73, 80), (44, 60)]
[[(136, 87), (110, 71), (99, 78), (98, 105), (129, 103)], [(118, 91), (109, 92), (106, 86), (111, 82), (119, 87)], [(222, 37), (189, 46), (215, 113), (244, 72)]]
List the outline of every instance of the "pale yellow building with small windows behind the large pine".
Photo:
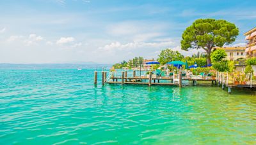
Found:
[(217, 47), (214, 49), (225, 50), (227, 60), (239, 60), (246, 58), (246, 53), (244, 52), (246, 47)]

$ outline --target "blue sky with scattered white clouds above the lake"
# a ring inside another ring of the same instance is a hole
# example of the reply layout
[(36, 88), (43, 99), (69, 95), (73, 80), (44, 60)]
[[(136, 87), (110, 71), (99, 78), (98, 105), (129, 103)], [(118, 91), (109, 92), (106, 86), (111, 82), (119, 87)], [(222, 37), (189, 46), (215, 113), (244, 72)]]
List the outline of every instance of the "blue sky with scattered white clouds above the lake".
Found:
[(237, 25), (232, 45), (256, 26), (255, 1), (0, 1), (0, 63), (111, 64), (180, 50), (182, 32), (197, 18)]

